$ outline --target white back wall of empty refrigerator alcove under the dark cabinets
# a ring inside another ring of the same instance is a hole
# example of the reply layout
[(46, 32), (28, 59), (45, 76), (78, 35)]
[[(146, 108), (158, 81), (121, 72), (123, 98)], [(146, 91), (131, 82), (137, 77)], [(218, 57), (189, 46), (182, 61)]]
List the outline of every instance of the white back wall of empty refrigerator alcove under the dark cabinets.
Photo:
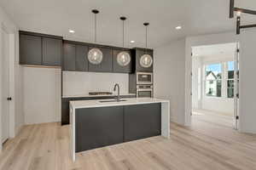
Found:
[(61, 69), (23, 70), (25, 123), (61, 122)]

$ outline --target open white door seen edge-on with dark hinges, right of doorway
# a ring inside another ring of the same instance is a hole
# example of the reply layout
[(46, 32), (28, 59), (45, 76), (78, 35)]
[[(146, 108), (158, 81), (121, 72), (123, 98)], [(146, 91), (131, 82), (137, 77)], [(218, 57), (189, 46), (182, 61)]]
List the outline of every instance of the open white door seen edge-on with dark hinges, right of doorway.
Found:
[(239, 127), (239, 43), (236, 44), (234, 59), (234, 128)]

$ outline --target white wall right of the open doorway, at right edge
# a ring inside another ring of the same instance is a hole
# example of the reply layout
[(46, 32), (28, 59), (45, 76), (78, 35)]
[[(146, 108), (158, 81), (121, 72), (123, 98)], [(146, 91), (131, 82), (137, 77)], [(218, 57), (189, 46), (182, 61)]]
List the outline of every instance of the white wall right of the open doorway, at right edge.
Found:
[(256, 133), (256, 29), (241, 31), (240, 42), (240, 130)]

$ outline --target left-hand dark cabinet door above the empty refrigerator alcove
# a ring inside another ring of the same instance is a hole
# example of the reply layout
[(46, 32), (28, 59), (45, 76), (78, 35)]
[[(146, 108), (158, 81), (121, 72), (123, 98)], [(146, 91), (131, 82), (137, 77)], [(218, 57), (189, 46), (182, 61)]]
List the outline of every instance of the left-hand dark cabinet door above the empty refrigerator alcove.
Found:
[(20, 65), (42, 64), (42, 39), (20, 34)]

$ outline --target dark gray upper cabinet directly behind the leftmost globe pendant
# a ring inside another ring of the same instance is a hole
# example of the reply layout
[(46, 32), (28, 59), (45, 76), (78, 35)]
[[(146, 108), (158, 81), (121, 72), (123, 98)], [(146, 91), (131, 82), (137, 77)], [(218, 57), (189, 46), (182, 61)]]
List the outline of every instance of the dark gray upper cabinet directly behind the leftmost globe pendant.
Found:
[[(89, 50), (94, 47), (90, 47)], [(99, 65), (91, 64), (89, 61), (89, 71), (96, 71), (96, 72), (112, 72), (112, 54), (113, 50), (111, 48), (99, 48), (102, 51), (103, 59), (102, 63)]]

